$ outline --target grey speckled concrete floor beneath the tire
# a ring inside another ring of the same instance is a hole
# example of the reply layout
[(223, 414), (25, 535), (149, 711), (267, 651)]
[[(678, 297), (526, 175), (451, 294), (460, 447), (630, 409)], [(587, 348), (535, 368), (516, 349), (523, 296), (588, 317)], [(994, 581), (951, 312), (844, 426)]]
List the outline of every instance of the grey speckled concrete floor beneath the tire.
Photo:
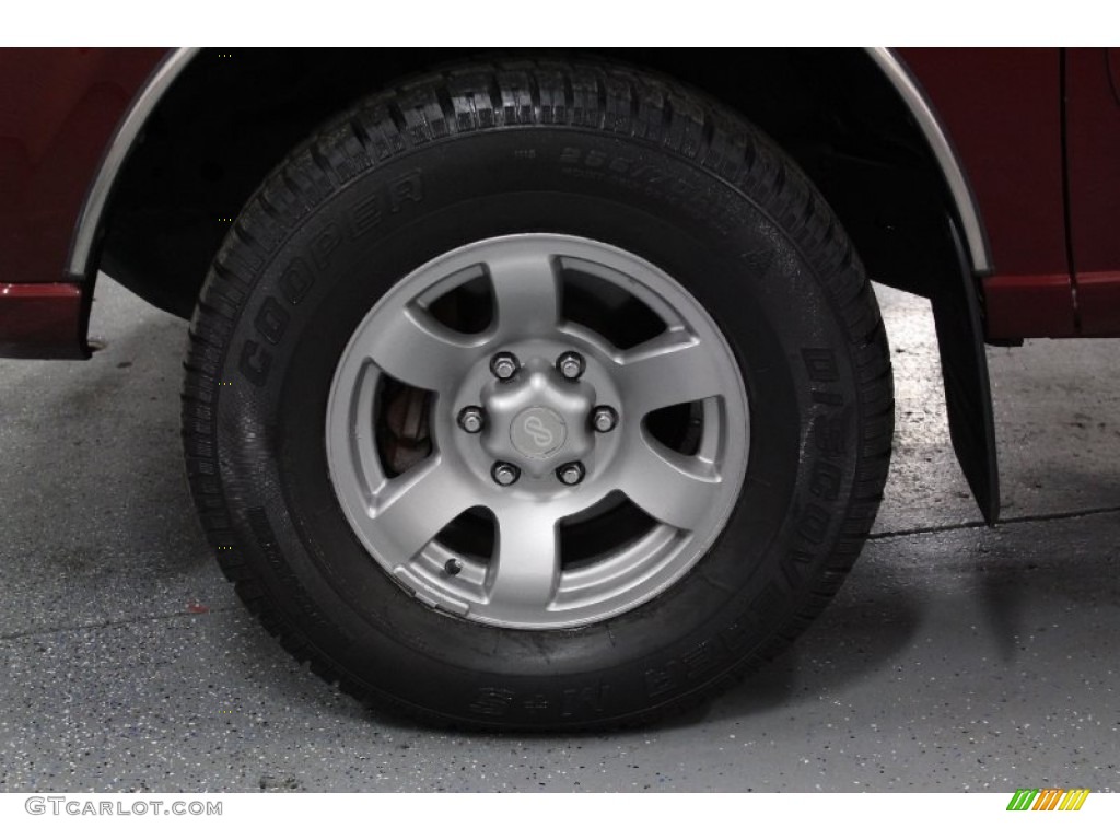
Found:
[(989, 530), (928, 309), (880, 301), (887, 502), (810, 632), (653, 729), (478, 737), (361, 708), (241, 608), (183, 477), (184, 325), (103, 282), (93, 361), (0, 362), (0, 791), (1120, 790), (1120, 343), (989, 352)]

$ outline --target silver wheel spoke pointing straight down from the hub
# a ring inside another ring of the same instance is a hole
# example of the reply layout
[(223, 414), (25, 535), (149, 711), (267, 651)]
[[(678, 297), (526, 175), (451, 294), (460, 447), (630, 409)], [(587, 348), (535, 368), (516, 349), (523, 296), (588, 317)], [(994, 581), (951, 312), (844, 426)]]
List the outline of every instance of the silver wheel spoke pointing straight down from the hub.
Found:
[(547, 505), (497, 512), (497, 551), (489, 573), (489, 604), (543, 610), (556, 596), (560, 547)]

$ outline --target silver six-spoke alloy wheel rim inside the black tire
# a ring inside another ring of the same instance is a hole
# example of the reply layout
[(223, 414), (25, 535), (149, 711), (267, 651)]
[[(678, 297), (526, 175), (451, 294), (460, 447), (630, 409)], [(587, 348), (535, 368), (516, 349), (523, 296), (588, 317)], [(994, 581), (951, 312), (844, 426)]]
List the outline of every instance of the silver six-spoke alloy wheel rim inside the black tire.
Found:
[[(566, 318), (569, 272), (632, 296), (664, 328), (623, 349)], [(479, 279), (493, 310), (485, 328), (459, 332), (433, 315)], [(498, 354), (515, 360), (513, 376), (492, 370)], [(578, 377), (566, 375), (577, 365), (564, 354), (578, 354)], [(431, 450), (403, 472), (379, 448), (386, 381), (427, 392)], [(615, 419), (607, 431), (595, 423), (603, 407)], [(684, 450), (653, 431), (666, 409), (688, 412)], [(632, 253), (556, 234), (476, 242), (402, 279), (351, 337), (327, 404), (332, 483), (373, 562), (429, 607), (524, 629), (603, 620), (678, 581), (730, 516), (749, 439), (743, 377), (700, 304)], [(591, 548), (577, 548), (592, 553), (570, 561), (568, 534), (624, 507), (648, 526), (606, 548), (586, 540)], [(472, 516), (491, 523), (488, 556), (444, 536)]]

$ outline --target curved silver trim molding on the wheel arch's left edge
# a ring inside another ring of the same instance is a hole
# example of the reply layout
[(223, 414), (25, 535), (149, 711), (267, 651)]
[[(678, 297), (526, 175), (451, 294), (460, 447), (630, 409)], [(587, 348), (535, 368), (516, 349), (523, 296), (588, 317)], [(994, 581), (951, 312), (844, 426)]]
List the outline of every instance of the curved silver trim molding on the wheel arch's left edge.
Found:
[(101, 158), (97, 175), (93, 179), (90, 192), (86, 193), (85, 203), (82, 205), (82, 212), (74, 227), (69, 260), (66, 263), (68, 274), (81, 278), (91, 276), (94, 267), (90, 263), (93, 259), (97, 226), (101, 224), (101, 217), (105, 212), (105, 204), (109, 202), (109, 195), (116, 183), (116, 177), (151, 112), (156, 110), (156, 105), (159, 104), (171, 83), (198, 52), (199, 47), (181, 47), (165, 57), (136, 99), (132, 100), (124, 119), (116, 127), (116, 132)]

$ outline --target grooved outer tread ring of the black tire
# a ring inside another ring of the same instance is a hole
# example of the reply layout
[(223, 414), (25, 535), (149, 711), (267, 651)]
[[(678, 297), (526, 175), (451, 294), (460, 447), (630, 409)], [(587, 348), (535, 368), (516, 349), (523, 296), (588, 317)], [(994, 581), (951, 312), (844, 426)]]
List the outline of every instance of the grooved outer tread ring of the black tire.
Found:
[[(830, 601), (869, 533), (892, 451), (894, 395), (883, 320), (851, 243), (809, 179), (739, 115), (675, 82), (608, 64), (515, 60), (477, 63), (371, 96), (292, 151), (250, 198), (216, 255), (189, 330), (181, 419), (195, 505), (225, 577), (248, 608), (300, 662), (343, 691), (409, 716), (470, 728), (474, 720), (437, 716), (347, 679), (274, 608), (236, 550), (216, 454), (216, 380), (256, 269), (314, 207), (372, 167), (418, 146), (456, 134), (568, 127), (622, 134), (704, 168), (760, 203), (802, 243), (846, 326), (859, 389), (862, 429), (855, 491), (839, 539), (800, 607), (767, 642), (731, 670), (674, 701), (624, 721), (564, 728), (644, 725), (700, 703), (781, 654)], [(508, 729), (508, 725), (503, 725)]]

